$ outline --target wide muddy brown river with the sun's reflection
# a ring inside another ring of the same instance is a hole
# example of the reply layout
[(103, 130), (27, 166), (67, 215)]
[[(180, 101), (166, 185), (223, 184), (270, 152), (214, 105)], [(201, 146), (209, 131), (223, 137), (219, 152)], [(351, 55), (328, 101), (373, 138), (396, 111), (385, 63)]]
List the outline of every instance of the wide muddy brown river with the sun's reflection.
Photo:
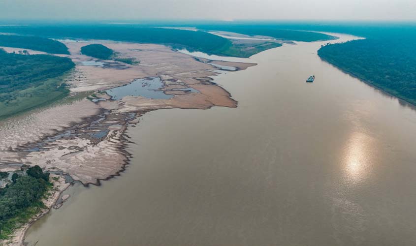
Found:
[(27, 241), (416, 245), (416, 111), (321, 62), (320, 45), (284, 45), (215, 77), (237, 109), (146, 114), (128, 130), (126, 172), (72, 187)]

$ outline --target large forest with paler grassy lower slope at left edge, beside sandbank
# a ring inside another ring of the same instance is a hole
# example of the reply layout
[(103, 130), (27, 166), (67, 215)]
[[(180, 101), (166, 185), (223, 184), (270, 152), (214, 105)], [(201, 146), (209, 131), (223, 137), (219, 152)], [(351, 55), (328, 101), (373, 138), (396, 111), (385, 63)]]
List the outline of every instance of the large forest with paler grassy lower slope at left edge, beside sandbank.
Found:
[(64, 96), (62, 76), (74, 66), (69, 58), (0, 49), (0, 118)]

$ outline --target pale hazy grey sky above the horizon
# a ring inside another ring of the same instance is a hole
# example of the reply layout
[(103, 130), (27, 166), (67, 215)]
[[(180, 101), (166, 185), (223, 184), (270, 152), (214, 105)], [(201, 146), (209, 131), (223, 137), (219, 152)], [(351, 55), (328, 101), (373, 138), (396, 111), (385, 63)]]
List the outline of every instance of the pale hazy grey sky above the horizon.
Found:
[(416, 20), (416, 0), (0, 0), (0, 19)]

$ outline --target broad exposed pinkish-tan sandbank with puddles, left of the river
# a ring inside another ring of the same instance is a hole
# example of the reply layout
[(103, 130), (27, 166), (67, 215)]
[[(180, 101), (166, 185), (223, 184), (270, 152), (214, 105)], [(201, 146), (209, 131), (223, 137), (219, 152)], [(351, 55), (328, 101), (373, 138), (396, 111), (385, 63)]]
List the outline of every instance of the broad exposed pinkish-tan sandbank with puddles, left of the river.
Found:
[[(95, 41), (113, 49), (121, 57), (135, 58), (140, 63), (100, 61), (106, 64), (102, 67), (87, 66), (82, 62), (96, 61), (80, 53), (81, 47), (89, 43), (65, 42), (71, 53), (68, 57), (76, 63), (75, 71), (66, 83), (72, 95), (86, 92), (94, 94), (96, 99), (102, 98), (102, 101), (73, 100), (0, 122), (0, 167), (19, 163), (39, 165), (47, 170), (63, 171), (83, 184), (99, 184), (99, 180), (118, 175), (128, 163), (125, 131), (128, 125), (138, 123), (138, 117), (144, 113), (161, 108), (237, 106), (227, 91), (212, 83), (211, 77), (218, 74), (218, 68), (206, 62), (163, 45)], [(5, 50), (19, 51), (14, 48)], [(238, 62), (215, 64), (233, 66), (237, 70), (255, 65)], [(116, 101), (102, 92), (147, 77), (160, 77), (163, 82), (160, 90), (173, 97), (126, 96)], [(198, 92), (177, 90), (186, 88)]]

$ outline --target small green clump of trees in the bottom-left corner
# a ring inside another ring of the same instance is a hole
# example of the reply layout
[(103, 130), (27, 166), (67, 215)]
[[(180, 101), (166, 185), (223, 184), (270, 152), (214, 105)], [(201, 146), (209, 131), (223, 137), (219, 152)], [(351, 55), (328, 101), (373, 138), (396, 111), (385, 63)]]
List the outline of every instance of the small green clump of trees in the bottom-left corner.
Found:
[(44, 208), (41, 200), (50, 186), (49, 173), (39, 166), (30, 167), (26, 174), (13, 174), (12, 182), (0, 189), (0, 239), (7, 239), (19, 224)]

